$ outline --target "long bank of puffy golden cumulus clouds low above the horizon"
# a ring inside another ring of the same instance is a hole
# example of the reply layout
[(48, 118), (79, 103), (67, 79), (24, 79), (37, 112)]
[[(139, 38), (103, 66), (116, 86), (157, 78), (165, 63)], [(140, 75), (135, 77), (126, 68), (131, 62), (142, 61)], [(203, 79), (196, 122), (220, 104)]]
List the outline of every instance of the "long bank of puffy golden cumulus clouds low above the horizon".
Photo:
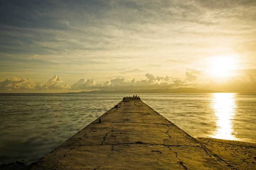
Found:
[(186, 72), (184, 80), (181, 78), (172, 78), (171, 76), (155, 76), (147, 73), (146, 79), (126, 80), (124, 78), (116, 78), (105, 83), (96, 83), (94, 79), (80, 79), (74, 84), (61, 85), (63, 82), (60, 77), (55, 75), (45, 82), (33, 82), (30, 79), (6, 79), (0, 81), (0, 91), (15, 92), (19, 90), (54, 90), (58, 91), (91, 91), (91, 90), (125, 90), (125, 89), (152, 89), (152, 88), (178, 88), (178, 87), (194, 87), (210, 90), (223, 90), (226, 92), (256, 92), (256, 79), (254, 70), (245, 71), (247, 79), (234, 78), (231, 80), (217, 81), (208, 79), (198, 81), (197, 77), (192, 73)]

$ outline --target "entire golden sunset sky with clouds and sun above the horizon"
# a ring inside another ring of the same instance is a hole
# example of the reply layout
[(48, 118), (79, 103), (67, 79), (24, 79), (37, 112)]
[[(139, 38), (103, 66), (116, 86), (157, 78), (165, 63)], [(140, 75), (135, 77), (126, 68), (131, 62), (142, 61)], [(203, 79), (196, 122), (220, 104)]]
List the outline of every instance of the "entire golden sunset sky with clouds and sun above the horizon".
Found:
[(0, 93), (256, 92), (255, 0), (2, 0)]

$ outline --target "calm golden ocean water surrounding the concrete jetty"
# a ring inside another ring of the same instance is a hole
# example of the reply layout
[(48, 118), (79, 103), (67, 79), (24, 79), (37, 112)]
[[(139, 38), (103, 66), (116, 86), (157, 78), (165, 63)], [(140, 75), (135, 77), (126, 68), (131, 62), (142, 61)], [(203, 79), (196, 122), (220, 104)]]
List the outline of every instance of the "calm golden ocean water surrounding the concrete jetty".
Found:
[[(0, 164), (38, 161), (132, 95), (0, 94)], [(137, 95), (193, 137), (256, 143), (256, 93)]]

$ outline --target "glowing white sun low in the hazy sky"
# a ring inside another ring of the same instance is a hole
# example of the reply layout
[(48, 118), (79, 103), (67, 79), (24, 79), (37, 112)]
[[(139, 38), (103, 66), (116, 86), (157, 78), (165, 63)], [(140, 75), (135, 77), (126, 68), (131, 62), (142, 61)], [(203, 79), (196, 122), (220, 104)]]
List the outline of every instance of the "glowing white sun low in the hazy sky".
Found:
[(234, 70), (234, 59), (226, 56), (218, 56), (211, 61), (212, 74), (217, 77), (226, 77)]

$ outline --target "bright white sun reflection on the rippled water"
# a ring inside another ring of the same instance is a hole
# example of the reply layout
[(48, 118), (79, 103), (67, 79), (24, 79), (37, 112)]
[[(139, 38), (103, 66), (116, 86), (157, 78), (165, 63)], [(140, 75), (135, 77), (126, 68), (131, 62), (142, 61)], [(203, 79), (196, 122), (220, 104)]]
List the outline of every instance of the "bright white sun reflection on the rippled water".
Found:
[(212, 138), (237, 140), (233, 129), (236, 115), (236, 99), (234, 93), (214, 93), (212, 108), (216, 118), (216, 129)]

